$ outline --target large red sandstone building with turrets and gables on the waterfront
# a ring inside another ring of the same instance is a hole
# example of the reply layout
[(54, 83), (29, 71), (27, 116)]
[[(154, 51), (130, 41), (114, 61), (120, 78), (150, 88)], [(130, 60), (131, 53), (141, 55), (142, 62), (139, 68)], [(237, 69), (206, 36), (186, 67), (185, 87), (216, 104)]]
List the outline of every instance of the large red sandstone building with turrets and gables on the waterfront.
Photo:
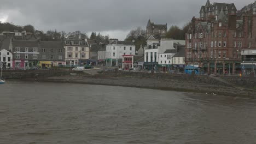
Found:
[(200, 18), (191, 20), (186, 34), (185, 63), (199, 65), (208, 74), (236, 74), (241, 50), (256, 46), (256, 2), (240, 11), (234, 3), (201, 7)]

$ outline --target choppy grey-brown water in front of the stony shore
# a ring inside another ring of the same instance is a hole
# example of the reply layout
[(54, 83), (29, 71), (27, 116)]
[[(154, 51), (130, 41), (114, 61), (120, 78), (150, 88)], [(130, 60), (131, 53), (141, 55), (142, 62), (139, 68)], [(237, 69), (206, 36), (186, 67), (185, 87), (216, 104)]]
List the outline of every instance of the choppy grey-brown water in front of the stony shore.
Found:
[(256, 143), (252, 99), (25, 82), (0, 95), (0, 143)]

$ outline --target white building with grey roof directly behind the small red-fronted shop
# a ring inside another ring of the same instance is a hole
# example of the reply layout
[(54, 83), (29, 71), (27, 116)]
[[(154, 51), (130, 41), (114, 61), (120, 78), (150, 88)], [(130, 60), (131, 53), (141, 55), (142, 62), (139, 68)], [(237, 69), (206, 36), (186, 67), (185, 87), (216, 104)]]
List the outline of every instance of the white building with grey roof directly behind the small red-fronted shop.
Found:
[(112, 41), (106, 46), (106, 65), (122, 67), (123, 55), (135, 55), (135, 45), (131, 41)]

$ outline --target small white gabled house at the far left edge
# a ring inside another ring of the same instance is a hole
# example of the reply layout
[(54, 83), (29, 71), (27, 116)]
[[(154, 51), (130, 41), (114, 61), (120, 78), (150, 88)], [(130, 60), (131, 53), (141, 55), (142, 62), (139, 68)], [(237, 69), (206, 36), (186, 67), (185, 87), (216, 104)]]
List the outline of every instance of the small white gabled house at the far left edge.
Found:
[(8, 50), (0, 51), (0, 62), (3, 62), (5, 68), (13, 68), (13, 54)]

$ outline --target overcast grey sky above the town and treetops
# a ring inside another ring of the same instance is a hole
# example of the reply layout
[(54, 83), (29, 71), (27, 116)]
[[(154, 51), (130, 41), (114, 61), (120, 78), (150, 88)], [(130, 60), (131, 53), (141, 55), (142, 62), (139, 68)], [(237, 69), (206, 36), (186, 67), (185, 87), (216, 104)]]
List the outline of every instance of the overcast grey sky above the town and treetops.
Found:
[[(235, 3), (237, 9), (254, 0), (210, 0)], [(46, 32), (96, 31), (123, 40), (132, 28), (155, 23), (182, 27), (198, 16), (206, 0), (1, 0), (0, 21), (31, 24)]]

